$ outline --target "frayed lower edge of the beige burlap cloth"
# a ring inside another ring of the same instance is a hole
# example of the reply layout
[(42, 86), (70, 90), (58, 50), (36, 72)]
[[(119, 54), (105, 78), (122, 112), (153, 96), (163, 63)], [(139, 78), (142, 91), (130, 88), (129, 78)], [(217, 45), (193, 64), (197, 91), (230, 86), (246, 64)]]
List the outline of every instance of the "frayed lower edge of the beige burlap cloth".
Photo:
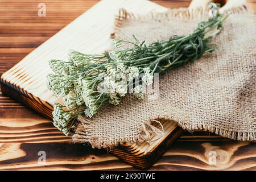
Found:
[(156, 115), (155, 117), (149, 117), (147, 121), (141, 121), (142, 126), (137, 137), (133, 139), (122, 138), (115, 140), (115, 142), (106, 142), (106, 138), (97, 137), (93, 134), (92, 127), (94, 122), (92, 119), (79, 116), (79, 125), (76, 127), (75, 134), (72, 136), (74, 143), (90, 143), (92, 148), (108, 148), (111, 150), (113, 146), (118, 146), (123, 143), (137, 143), (142, 144), (148, 142), (152, 134), (163, 137), (163, 125), (159, 121), (175, 121), (184, 130), (190, 131), (191, 133), (196, 130), (208, 131), (222, 137), (241, 140), (241, 141), (255, 141), (256, 132), (237, 132), (221, 129), (212, 125), (188, 125), (188, 121), (172, 117), (171, 115)]

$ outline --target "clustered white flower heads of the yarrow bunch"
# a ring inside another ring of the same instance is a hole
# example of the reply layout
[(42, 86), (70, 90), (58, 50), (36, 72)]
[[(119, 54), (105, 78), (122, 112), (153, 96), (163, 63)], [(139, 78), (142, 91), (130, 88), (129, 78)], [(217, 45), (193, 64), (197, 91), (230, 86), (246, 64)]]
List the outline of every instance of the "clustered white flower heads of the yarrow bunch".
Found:
[[(152, 84), (150, 68), (133, 66), (122, 56), (118, 51), (105, 55), (72, 51), (68, 61), (49, 61), (54, 73), (48, 75), (48, 88), (61, 98), (53, 108), (53, 124), (64, 134), (69, 134), (79, 114), (90, 118), (103, 104), (120, 104), (140, 74), (143, 77), (139, 84)], [(142, 99), (144, 92), (138, 86), (134, 95)]]

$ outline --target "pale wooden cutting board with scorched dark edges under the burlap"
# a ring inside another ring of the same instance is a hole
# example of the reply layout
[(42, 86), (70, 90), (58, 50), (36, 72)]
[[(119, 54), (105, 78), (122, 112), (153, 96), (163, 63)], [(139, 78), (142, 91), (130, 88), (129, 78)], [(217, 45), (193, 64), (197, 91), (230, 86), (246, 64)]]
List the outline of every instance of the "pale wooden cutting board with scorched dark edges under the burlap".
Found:
[[(193, 7), (196, 7), (195, 5), (198, 3), (194, 3)], [(2, 92), (52, 118), (55, 97), (46, 86), (46, 75), (51, 72), (48, 60), (65, 60), (69, 49), (89, 53), (101, 53), (108, 49), (114, 15), (119, 8), (139, 14), (166, 11), (166, 8), (146, 0), (101, 1), (4, 73), (1, 77)], [(183, 131), (172, 121), (163, 121), (163, 126), (163, 138), (152, 136), (150, 144), (125, 144), (115, 147), (111, 150), (112, 154), (135, 167), (150, 167)]]

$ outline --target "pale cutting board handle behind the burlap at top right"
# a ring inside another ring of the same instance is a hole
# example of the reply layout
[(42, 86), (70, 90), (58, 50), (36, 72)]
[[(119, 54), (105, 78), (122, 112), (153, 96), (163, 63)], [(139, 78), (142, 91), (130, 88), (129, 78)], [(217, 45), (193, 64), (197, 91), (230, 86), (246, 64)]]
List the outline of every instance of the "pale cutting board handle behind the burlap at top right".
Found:
[(246, 0), (192, 0), (189, 9), (201, 8), (203, 10), (208, 9), (210, 2), (216, 2), (221, 4), (220, 13), (236, 7), (241, 7), (246, 4)]

